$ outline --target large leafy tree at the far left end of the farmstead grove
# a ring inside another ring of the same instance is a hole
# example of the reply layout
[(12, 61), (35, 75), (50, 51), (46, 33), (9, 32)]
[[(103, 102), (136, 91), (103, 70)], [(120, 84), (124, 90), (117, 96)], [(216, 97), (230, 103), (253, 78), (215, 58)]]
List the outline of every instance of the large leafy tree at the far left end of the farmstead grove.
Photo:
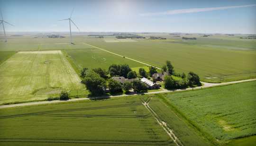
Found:
[(102, 95), (106, 89), (106, 81), (98, 73), (88, 70), (82, 83), (92, 95)]

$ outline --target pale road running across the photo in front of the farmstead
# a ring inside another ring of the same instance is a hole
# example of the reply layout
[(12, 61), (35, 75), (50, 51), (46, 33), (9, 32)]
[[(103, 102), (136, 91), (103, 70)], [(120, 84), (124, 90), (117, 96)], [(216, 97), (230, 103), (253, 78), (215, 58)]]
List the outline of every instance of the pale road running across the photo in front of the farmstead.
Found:
[[(209, 88), (214, 86), (220, 86), (220, 85), (229, 85), (239, 82), (246, 82), (246, 81), (256, 81), (256, 79), (248, 79), (248, 80), (240, 80), (240, 81), (230, 81), (230, 82), (222, 82), (222, 83), (208, 83), (208, 82), (202, 82), (204, 85), (201, 87), (195, 87), (195, 88), (187, 88), (187, 89), (176, 89), (176, 90), (161, 90), (161, 91), (154, 91), (154, 92), (147, 92), (144, 94), (157, 94), (157, 93), (166, 93), (166, 92), (175, 92), (175, 91), (183, 91), (183, 90), (192, 90), (192, 89), (203, 89), (203, 88)], [(126, 97), (126, 96), (136, 96), (141, 94), (122, 94), (117, 96), (110, 96), (110, 98), (113, 97)], [(8, 107), (16, 107), (16, 106), (25, 106), (25, 105), (42, 105), (42, 104), (52, 104), (52, 103), (60, 103), (60, 102), (70, 102), (70, 101), (79, 101), (79, 100), (89, 100), (89, 98), (73, 98), (67, 101), (61, 101), (61, 100), (53, 100), (53, 101), (37, 101), (37, 102), (27, 102), (27, 103), (21, 103), (21, 104), (12, 104), (12, 105), (0, 105), (0, 108), (8, 108)]]

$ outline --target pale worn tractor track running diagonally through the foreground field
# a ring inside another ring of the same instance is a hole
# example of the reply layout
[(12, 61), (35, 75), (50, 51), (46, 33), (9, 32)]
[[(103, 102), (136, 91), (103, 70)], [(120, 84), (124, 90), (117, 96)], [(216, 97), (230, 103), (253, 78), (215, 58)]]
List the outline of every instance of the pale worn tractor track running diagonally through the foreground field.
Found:
[(181, 143), (179, 138), (177, 138), (177, 136), (175, 136), (174, 131), (171, 130), (167, 126), (166, 122), (162, 121), (161, 118), (155, 113), (155, 111), (148, 105), (151, 98), (149, 98), (148, 101), (145, 101), (144, 99), (142, 99), (142, 105), (144, 105), (146, 107), (146, 109), (154, 116), (156, 122), (158, 122), (158, 124), (165, 130), (165, 132), (168, 134), (168, 136), (174, 141), (175, 145), (183, 146), (183, 144)]

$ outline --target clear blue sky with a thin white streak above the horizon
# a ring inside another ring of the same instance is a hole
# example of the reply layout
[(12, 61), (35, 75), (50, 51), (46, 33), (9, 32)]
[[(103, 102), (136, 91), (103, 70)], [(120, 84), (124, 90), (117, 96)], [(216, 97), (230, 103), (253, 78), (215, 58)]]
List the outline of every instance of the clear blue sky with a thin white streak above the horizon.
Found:
[(256, 0), (0, 0), (7, 32), (68, 32), (73, 8), (80, 32), (256, 33)]

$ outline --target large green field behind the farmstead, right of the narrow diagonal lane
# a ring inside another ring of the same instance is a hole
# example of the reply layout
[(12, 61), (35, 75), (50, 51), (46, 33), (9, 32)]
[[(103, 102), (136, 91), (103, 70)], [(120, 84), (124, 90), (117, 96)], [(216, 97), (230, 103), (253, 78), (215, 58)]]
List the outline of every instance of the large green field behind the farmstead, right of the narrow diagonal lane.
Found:
[(224, 41), (214, 40), (217, 39), (211, 39), (211, 43), (205, 40), (203, 43), (200, 40), (106, 43), (101, 39), (85, 39), (88, 44), (158, 67), (170, 60), (178, 73), (193, 71), (199, 74), (202, 81), (225, 82), (256, 77), (255, 42), (236, 42), (244, 44), (238, 45), (238, 48), (249, 49), (237, 50), (230, 49), (234, 47), (233, 41), (223, 44)]

